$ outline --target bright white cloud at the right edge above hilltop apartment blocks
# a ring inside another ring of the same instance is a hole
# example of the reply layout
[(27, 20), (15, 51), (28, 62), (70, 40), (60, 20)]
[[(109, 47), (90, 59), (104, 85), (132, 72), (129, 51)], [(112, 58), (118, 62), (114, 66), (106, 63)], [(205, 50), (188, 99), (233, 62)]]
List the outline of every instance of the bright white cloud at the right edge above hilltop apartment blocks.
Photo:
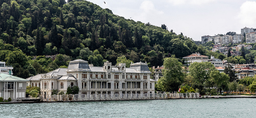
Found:
[(256, 24), (256, 2), (246, 1), (240, 7), (238, 18), (240, 22), (245, 25)]

